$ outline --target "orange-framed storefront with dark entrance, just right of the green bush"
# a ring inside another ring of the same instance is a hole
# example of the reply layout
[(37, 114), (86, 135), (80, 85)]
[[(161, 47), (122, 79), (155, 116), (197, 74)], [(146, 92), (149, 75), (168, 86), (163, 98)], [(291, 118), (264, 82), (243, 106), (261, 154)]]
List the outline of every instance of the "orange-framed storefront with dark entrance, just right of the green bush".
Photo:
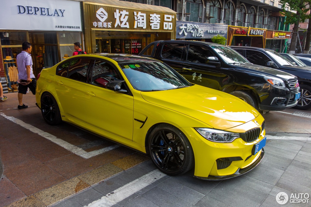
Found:
[(228, 26), (227, 45), (265, 48), (267, 29)]

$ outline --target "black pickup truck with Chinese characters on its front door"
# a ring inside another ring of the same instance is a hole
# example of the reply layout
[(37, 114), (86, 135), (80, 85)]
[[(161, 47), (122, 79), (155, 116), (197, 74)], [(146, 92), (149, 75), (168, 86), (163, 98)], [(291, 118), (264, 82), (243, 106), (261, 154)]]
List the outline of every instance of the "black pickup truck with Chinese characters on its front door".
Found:
[(297, 77), (253, 65), (224, 45), (160, 40), (148, 44), (139, 55), (165, 62), (188, 81), (230, 93), (262, 111), (284, 110), (299, 99)]

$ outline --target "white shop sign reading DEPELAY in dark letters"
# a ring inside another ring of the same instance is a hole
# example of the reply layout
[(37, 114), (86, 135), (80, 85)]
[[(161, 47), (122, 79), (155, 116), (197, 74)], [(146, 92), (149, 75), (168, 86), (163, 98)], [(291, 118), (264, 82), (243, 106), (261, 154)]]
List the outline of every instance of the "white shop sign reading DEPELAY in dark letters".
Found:
[(2, 30), (82, 31), (76, 1), (6, 1), (0, 7), (0, 19)]

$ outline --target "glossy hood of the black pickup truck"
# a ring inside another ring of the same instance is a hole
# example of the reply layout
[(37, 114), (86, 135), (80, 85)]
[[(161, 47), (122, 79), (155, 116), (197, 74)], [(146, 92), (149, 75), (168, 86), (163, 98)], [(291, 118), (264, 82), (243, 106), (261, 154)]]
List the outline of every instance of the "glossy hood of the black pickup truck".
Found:
[(281, 78), (283, 81), (288, 81), (290, 79), (295, 79), (297, 78), (296, 76), (289, 74), (287, 72), (284, 71), (280, 71), (277, 69), (272, 69), (270, 67), (265, 67), (265, 66), (261, 66), (261, 65), (254, 65), (254, 64), (246, 64), (246, 65), (233, 65), (233, 68), (244, 68), (247, 71), (258, 71), (258, 74), (264, 74), (267, 76), (278, 76), (279, 78)]

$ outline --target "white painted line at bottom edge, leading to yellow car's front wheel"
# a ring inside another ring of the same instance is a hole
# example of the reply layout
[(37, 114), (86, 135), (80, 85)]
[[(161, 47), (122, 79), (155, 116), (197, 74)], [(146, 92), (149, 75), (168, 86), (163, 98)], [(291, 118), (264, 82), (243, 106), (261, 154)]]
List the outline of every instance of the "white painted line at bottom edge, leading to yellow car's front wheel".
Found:
[[(95, 200), (87, 207), (109, 207), (114, 204), (117, 204), (121, 200), (127, 198), (128, 196), (136, 193), (137, 191), (142, 190), (144, 187), (150, 185), (151, 183), (155, 182), (156, 180), (160, 179), (161, 177), (164, 177), (165, 174), (161, 173), (159, 170), (151, 171), (150, 173), (137, 178), (136, 180), (119, 187), (114, 193), (107, 194), (103, 196), (99, 200)], [(85, 206), (86, 207), (86, 206)]]

